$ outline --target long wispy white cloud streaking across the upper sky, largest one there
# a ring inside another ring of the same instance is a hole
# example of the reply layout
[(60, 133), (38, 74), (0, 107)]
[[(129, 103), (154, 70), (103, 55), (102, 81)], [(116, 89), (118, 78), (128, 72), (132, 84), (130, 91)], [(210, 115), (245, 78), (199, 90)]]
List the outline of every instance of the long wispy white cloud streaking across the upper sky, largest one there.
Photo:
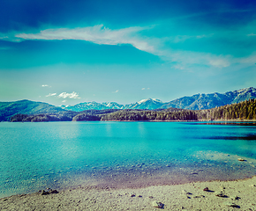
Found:
[[(215, 68), (229, 67), (234, 60), (229, 55), (213, 55), (204, 52), (173, 50), (166, 46), (166, 42), (180, 42), (188, 39), (203, 39), (214, 34), (177, 35), (171, 38), (154, 38), (141, 35), (149, 26), (132, 26), (123, 29), (111, 30), (104, 25), (94, 25), (81, 28), (56, 28), (42, 30), (40, 33), (18, 33), (15, 39), (20, 40), (86, 40), (99, 45), (130, 44), (141, 51), (157, 55), (174, 69), (188, 69), (192, 65), (212, 66)], [(254, 36), (254, 33), (248, 36)], [(65, 95), (64, 95), (65, 96)], [(63, 98), (63, 97), (60, 97)]]

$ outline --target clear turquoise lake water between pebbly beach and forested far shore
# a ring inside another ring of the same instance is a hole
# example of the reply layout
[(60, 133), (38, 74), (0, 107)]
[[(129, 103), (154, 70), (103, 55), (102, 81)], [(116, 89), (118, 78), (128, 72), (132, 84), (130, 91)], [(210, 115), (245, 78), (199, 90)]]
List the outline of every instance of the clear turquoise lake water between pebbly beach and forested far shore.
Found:
[(47, 187), (252, 177), (255, 128), (253, 123), (1, 122), (0, 197)]

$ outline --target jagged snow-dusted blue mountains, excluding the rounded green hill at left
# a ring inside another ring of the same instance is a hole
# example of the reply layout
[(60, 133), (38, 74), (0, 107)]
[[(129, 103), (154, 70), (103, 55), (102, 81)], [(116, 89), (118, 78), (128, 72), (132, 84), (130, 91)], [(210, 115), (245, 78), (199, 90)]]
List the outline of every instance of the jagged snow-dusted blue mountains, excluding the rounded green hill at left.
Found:
[(61, 106), (64, 109), (81, 112), (84, 110), (104, 110), (104, 109), (165, 109), (169, 107), (183, 109), (209, 109), (216, 106), (224, 106), (245, 101), (246, 99), (256, 98), (256, 89), (253, 87), (245, 88), (237, 91), (228, 91), (225, 93), (196, 94), (191, 97), (177, 98), (167, 103), (163, 103), (160, 99), (148, 98), (139, 102), (121, 105), (116, 102), (106, 103), (80, 103), (75, 106)]

